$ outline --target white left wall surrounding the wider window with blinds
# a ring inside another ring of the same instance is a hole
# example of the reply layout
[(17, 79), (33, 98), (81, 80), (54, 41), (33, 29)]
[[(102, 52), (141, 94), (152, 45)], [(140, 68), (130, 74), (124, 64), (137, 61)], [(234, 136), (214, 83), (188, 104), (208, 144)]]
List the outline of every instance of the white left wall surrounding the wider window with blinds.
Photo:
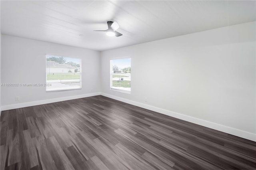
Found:
[[(46, 54), (82, 60), (82, 89), (46, 93), (45, 87), (1, 87), (3, 110), (54, 102), (49, 99), (100, 94), (100, 52), (6, 35), (1, 38), (1, 83), (45, 83)], [(20, 101), (15, 101), (15, 97), (20, 97)]]

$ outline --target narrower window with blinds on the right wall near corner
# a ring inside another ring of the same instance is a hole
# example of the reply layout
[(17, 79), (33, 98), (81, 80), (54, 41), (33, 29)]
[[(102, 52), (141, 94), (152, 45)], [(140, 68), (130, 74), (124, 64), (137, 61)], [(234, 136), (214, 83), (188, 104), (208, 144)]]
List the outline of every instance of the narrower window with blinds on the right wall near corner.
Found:
[(131, 92), (131, 58), (110, 60), (110, 89)]

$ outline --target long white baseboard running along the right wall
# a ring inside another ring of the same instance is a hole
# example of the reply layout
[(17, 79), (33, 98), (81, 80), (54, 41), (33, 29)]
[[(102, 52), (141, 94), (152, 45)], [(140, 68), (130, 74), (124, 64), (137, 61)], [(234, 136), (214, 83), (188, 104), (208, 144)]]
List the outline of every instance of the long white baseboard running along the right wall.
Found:
[(121, 98), (121, 97), (116, 97), (116, 96), (109, 95), (109, 94), (106, 94), (106, 93), (101, 93), (101, 95), (105, 96), (105, 97), (109, 97), (111, 99), (122, 101), (124, 103), (128, 103), (128, 104), (131, 104), (131, 105), (142, 107), (142, 108), (148, 109), (150, 111), (155, 111), (155, 112), (158, 112), (158, 113), (162, 113), (164, 115), (175, 117), (175, 118), (178, 118), (178, 119), (181, 119), (181, 120), (184, 120), (184, 121), (195, 123), (197, 125), (201, 125), (201, 126), (204, 126), (204, 127), (219, 130), (221, 132), (225, 132), (225, 133), (228, 133), (228, 134), (232, 134), (234, 136), (238, 136), (238, 137), (245, 138), (245, 139), (252, 140), (252, 141), (256, 142), (256, 134), (251, 133), (251, 132), (246, 132), (246, 131), (239, 130), (239, 129), (232, 128), (232, 127), (227, 127), (227, 126), (220, 125), (220, 124), (217, 124), (217, 123), (205, 121), (203, 119), (190, 117), (190, 116), (187, 116), (187, 115), (183, 115), (183, 114), (180, 114), (180, 113), (168, 111), (168, 110), (161, 109), (161, 108), (158, 108), (158, 107), (146, 105), (146, 104), (139, 103), (139, 102), (136, 102), (136, 101), (131, 101), (131, 100), (124, 99), (124, 98)]

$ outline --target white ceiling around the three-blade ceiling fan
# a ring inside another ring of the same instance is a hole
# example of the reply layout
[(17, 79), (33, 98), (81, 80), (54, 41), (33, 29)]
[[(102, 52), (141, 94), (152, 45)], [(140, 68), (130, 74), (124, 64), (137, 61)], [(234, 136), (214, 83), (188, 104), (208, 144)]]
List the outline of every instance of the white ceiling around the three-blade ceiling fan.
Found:
[[(255, 21), (256, 1), (0, 1), (1, 33), (98, 51)], [(120, 37), (108, 37), (107, 21)], [(83, 36), (79, 36), (82, 34)]]

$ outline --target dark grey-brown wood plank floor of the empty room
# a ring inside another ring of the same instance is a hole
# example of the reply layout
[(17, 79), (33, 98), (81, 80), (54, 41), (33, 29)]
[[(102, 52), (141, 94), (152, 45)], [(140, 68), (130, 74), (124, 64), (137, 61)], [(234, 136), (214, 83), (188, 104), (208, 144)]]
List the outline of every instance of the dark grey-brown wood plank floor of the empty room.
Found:
[(1, 170), (256, 169), (256, 142), (103, 96), (0, 120)]

